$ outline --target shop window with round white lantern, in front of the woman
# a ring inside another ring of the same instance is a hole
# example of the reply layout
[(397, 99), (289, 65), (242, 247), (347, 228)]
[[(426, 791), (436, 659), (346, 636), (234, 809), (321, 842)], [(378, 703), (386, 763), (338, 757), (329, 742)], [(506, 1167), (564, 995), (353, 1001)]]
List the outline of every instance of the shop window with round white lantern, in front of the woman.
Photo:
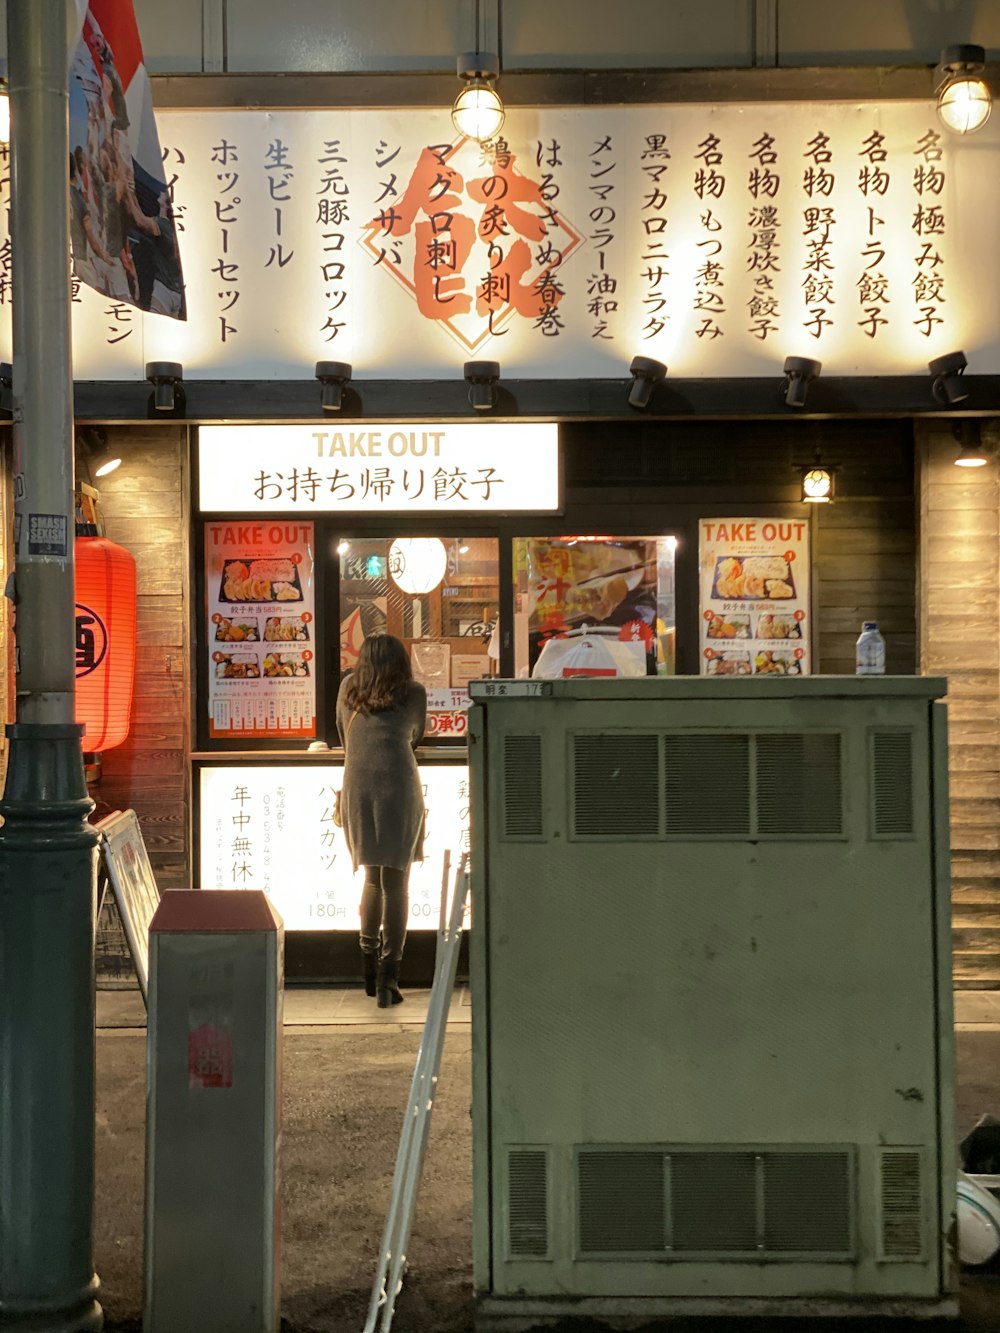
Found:
[(407, 645), (428, 690), (464, 690), (496, 673), (496, 539), (345, 537), (339, 555), (341, 672), (368, 635), (388, 633)]

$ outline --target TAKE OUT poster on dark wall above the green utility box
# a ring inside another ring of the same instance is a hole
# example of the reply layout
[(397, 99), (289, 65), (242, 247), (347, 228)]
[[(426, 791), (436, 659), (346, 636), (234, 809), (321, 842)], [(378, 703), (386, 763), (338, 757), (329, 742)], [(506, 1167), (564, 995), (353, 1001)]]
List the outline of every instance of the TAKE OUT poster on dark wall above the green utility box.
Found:
[(699, 523), (703, 676), (809, 673), (809, 524)]

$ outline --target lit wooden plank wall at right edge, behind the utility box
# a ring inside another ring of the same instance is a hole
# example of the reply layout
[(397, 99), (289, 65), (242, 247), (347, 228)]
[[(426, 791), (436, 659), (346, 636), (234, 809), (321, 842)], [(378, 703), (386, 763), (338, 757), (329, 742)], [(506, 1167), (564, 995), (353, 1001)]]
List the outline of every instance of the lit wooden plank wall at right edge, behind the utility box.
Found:
[(919, 424), (920, 669), (948, 677), (955, 982), (1000, 986), (1000, 480)]

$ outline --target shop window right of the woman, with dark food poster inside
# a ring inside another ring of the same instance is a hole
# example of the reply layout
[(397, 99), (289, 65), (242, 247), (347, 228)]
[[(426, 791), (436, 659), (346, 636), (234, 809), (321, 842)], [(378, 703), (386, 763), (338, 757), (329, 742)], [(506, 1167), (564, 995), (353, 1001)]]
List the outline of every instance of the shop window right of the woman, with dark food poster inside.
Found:
[(515, 541), (515, 674), (672, 676), (676, 537)]

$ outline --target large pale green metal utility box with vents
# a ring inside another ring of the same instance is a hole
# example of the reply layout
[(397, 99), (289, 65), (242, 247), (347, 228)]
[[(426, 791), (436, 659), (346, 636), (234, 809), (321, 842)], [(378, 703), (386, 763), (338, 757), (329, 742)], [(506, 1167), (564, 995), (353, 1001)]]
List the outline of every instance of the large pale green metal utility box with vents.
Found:
[(955, 1316), (945, 682), (471, 689), (477, 1328)]

